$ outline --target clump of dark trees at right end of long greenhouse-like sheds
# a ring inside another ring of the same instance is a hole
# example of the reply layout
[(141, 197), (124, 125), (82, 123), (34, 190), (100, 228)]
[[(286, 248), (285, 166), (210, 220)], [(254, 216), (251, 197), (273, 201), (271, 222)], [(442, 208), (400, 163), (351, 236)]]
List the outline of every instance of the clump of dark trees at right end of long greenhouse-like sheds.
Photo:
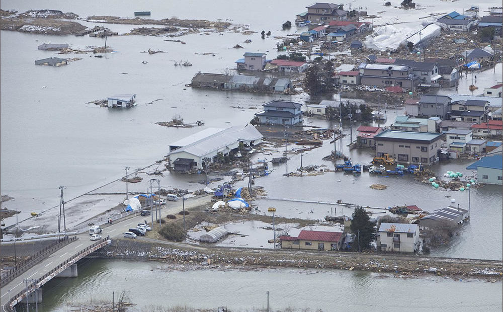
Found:
[(307, 69), (304, 77), (309, 95), (316, 96), (320, 94), (333, 93), (333, 64), (329, 60), (316, 60)]

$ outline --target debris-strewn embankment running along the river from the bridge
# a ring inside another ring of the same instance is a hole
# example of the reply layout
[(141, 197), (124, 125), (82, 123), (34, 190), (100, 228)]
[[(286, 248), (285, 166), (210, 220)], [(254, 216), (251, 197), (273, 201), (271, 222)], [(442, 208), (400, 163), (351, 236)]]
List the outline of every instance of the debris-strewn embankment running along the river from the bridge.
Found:
[(155, 260), (182, 264), (184, 270), (196, 269), (246, 269), (259, 267), (289, 267), (312, 269), (339, 269), (393, 273), (402, 277), (437, 275), (451, 278), (476, 277), (501, 281), (503, 264), (497, 260), (417, 257), (394, 254), (308, 252), (292, 250), (266, 250), (244, 248), (195, 249), (189, 244), (114, 240), (99, 251), (94, 258), (119, 258)]

